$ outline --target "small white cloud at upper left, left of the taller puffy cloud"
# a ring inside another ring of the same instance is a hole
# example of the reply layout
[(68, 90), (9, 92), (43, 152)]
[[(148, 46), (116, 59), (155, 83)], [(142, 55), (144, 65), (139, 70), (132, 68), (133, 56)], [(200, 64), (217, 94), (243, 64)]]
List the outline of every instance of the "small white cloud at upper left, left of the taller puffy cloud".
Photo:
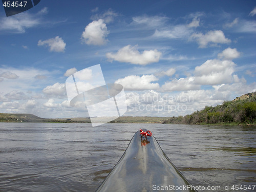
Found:
[(64, 52), (66, 43), (63, 41), (63, 39), (59, 36), (56, 36), (55, 38), (50, 38), (47, 40), (39, 40), (38, 46), (47, 46), (49, 47), (49, 50), (51, 52)]

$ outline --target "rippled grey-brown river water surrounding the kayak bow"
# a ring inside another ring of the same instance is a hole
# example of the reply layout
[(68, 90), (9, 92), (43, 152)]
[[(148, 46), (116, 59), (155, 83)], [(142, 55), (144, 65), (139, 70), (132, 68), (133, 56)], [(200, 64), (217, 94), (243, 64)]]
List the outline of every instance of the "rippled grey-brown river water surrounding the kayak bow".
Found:
[(0, 191), (95, 191), (140, 128), (198, 191), (256, 191), (254, 127), (82, 123), (0, 123)]

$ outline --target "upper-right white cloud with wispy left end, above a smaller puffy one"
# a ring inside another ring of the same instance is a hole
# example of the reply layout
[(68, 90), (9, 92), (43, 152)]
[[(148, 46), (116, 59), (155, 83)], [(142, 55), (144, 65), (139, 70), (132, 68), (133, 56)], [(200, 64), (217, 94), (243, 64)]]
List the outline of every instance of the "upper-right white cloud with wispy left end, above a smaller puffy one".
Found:
[(214, 44), (228, 44), (231, 42), (230, 39), (225, 37), (221, 30), (209, 31), (206, 34), (193, 33), (191, 38), (198, 41), (200, 48), (206, 48), (211, 42)]

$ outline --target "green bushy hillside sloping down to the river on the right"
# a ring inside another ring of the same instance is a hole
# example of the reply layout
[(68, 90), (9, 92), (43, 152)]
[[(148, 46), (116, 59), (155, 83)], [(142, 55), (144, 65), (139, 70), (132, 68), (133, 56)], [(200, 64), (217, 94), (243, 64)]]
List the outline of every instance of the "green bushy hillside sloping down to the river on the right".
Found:
[(172, 117), (163, 123), (256, 125), (256, 92), (217, 106), (205, 106), (201, 111)]

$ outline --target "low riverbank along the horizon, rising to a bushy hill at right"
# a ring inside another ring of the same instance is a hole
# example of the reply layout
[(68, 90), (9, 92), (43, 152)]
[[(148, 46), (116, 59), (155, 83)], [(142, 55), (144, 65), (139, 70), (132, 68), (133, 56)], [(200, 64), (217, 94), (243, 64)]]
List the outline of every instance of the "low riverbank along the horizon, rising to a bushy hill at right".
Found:
[[(91, 123), (89, 117), (40, 118), (32, 114), (0, 113), (0, 122)], [(256, 92), (224, 101), (217, 106), (205, 106), (201, 111), (178, 117), (122, 116), (109, 123), (172, 123), (201, 125), (256, 126)]]

